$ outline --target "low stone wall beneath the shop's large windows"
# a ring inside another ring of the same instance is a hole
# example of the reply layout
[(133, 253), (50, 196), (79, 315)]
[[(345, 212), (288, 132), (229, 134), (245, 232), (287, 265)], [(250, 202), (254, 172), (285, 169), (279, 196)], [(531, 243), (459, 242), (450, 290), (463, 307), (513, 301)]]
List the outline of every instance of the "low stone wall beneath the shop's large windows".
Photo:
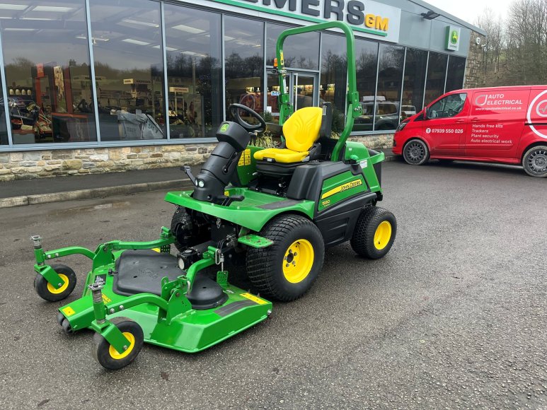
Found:
[[(368, 148), (393, 146), (393, 134), (351, 136)], [(203, 163), (216, 144), (0, 152), (0, 182)]]

